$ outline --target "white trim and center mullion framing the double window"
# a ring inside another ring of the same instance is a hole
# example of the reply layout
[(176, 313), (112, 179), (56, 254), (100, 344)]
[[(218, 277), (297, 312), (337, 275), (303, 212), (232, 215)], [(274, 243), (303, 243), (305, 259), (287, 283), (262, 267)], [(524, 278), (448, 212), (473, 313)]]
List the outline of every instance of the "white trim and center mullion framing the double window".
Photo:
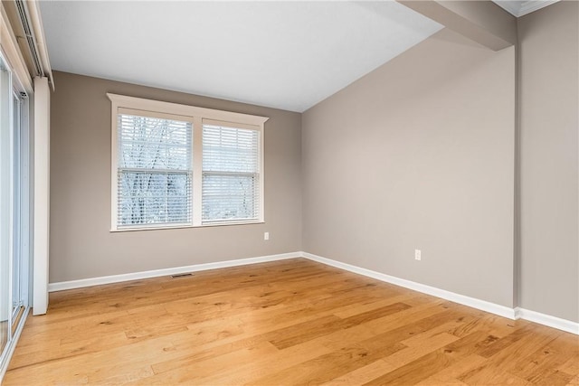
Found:
[[(216, 110), (213, 108), (198, 108), (195, 106), (181, 105), (178, 103), (163, 102), (152, 99), (142, 99), (128, 97), (124, 95), (107, 93), (111, 102), (111, 144), (110, 144), (110, 231), (148, 231), (148, 230), (165, 230), (176, 228), (194, 228), (194, 227), (211, 227), (223, 225), (243, 225), (261, 223), (265, 221), (264, 215), (264, 175), (263, 175), (263, 128), (267, 117), (253, 116), (249, 114), (235, 113), (231, 111)], [(174, 224), (163, 226), (144, 226), (119, 228), (117, 226), (118, 215), (118, 116), (119, 111), (123, 110), (140, 110), (144, 114), (152, 114), (159, 117), (180, 116), (188, 118), (193, 122), (193, 193), (192, 193), (192, 210), (193, 219), (191, 224)], [(229, 123), (240, 128), (252, 128), (260, 132), (260, 218), (255, 221), (215, 221), (202, 223), (201, 211), (201, 193), (203, 177), (203, 122), (219, 121)]]

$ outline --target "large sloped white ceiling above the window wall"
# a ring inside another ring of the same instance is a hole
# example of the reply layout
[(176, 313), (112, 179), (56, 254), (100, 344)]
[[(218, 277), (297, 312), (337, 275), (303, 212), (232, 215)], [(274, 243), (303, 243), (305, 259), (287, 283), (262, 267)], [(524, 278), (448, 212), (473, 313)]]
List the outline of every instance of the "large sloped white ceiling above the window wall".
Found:
[(54, 70), (299, 112), (442, 28), (394, 1), (40, 3)]

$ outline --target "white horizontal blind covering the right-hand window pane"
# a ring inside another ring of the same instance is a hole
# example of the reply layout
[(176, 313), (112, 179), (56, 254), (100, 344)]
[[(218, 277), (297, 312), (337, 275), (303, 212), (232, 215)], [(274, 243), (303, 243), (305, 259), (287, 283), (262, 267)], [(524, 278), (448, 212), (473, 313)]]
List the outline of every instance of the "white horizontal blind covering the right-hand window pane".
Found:
[(260, 131), (212, 123), (203, 125), (203, 223), (256, 221)]

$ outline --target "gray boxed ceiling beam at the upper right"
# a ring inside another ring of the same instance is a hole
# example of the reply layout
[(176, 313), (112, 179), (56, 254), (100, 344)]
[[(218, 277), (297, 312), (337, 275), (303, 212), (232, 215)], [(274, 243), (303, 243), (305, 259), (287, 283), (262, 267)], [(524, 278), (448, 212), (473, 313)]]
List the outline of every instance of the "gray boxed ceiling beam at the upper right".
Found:
[(517, 19), (490, 1), (397, 1), (493, 51), (517, 42)]

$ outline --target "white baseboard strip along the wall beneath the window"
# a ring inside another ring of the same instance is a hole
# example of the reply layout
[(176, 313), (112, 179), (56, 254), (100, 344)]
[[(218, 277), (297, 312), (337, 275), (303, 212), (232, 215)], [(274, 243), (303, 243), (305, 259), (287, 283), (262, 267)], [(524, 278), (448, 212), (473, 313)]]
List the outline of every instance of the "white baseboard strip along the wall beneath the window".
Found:
[(100, 286), (103, 284), (120, 283), (129, 280), (140, 280), (143, 278), (158, 278), (161, 276), (177, 275), (188, 272), (199, 272), (208, 269), (237, 267), (249, 264), (265, 263), (268, 261), (296, 259), (300, 257), (301, 257), (300, 252), (281, 253), (278, 255), (261, 256), (258, 258), (234, 259), (234, 260), (218, 261), (214, 263), (195, 264), (192, 266), (185, 266), (185, 267), (153, 269), (141, 272), (126, 273), (121, 275), (102, 276), (99, 278), (82, 278), (80, 280), (50, 283), (48, 285), (48, 292), (63, 291), (66, 289), (75, 289), (82, 287)]

